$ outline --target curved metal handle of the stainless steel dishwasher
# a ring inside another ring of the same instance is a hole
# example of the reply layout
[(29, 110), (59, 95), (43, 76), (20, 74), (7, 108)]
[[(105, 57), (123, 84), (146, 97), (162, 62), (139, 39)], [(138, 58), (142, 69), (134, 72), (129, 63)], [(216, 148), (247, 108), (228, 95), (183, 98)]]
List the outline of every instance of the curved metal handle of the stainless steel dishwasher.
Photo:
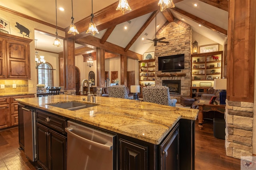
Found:
[(66, 127), (65, 128), (65, 131), (66, 133), (68, 133), (69, 135), (75, 137), (76, 139), (79, 139), (80, 141), (84, 141), (85, 143), (89, 143), (90, 145), (94, 145), (96, 147), (99, 147), (101, 149), (105, 149), (105, 150), (112, 150), (112, 145), (109, 145), (109, 144), (101, 144), (101, 143), (97, 143), (97, 142), (94, 142), (94, 141), (91, 141), (89, 139), (86, 139), (86, 138), (83, 138), (83, 137), (80, 137), (79, 135), (76, 135), (75, 133), (72, 132), (72, 127)]

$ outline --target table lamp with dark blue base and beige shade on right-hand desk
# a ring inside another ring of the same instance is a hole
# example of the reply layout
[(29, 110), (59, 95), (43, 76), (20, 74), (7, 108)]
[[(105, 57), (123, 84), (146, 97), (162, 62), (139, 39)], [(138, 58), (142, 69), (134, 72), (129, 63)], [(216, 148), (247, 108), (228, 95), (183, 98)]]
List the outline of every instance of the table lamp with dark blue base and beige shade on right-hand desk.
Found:
[(226, 104), (226, 89), (227, 89), (227, 79), (214, 79), (214, 86), (215, 90), (220, 90), (220, 104)]

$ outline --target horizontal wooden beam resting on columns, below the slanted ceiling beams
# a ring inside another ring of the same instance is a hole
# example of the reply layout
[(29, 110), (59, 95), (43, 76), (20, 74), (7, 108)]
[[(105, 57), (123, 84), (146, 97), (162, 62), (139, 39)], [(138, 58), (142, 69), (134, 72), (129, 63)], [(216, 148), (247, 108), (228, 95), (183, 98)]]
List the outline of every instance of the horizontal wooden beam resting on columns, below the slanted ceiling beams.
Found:
[(132, 58), (132, 59), (142, 60), (142, 55), (140, 55), (138, 53), (134, 53), (130, 50), (125, 52), (123, 47), (120, 47), (118, 45), (114, 45), (112, 43), (106, 42), (104, 44), (101, 44), (100, 39), (96, 38), (94, 36), (87, 36), (87, 37), (81, 38), (77, 41), (79, 43), (90, 44), (90, 45), (105, 49), (105, 50), (113, 52), (113, 53), (117, 53), (117, 54), (120, 54), (120, 55), (125, 55), (127, 57)]

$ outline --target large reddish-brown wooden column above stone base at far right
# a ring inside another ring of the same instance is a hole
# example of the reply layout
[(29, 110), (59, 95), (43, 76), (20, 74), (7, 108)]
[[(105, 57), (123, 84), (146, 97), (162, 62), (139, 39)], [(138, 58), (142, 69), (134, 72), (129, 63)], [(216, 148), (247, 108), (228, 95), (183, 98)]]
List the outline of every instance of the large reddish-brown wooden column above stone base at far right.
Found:
[(255, 0), (229, 0), (227, 99), (254, 102)]

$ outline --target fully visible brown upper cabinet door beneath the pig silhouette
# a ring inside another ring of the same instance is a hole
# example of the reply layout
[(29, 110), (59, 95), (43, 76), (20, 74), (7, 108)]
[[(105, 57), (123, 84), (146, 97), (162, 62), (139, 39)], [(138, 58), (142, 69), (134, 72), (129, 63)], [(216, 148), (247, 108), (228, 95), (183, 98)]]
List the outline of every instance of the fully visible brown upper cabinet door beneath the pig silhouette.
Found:
[(29, 44), (6, 40), (8, 78), (29, 78)]

